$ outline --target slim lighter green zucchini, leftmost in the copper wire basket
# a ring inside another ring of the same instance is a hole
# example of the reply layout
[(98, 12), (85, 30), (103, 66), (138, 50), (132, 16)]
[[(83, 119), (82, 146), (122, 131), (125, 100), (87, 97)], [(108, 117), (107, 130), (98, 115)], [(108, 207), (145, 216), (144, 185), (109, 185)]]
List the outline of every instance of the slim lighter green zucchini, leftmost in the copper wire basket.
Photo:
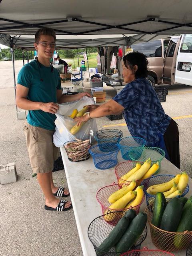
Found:
[(160, 227), (163, 212), (166, 208), (166, 199), (162, 192), (157, 192), (154, 202), (153, 218), (151, 223), (157, 228)]

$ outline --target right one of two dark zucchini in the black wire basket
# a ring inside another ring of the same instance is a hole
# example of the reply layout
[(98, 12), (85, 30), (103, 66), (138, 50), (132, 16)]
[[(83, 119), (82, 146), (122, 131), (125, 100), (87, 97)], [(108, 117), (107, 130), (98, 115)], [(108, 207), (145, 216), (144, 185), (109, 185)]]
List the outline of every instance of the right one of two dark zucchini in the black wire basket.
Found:
[(130, 250), (134, 243), (138, 240), (142, 234), (147, 222), (147, 214), (140, 212), (130, 223), (126, 232), (121, 237), (119, 242), (115, 246), (117, 253), (122, 253)]

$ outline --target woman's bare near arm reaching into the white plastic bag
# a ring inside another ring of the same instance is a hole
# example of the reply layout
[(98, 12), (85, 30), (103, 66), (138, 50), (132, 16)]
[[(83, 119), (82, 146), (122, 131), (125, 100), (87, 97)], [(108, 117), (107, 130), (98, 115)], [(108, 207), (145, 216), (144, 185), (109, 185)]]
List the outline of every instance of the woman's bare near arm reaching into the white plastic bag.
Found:
[[(124, 107), (118, 104), (115, 100), (110, 100), (109, 102), (99, 106), (92, 112), (90, 112), (90, 118), (98, 118), (102, 116), (114, 115), (116, 113), (122, 113)], [(87, 122), (89, 119), (88, 115), (76, 117), (74, 120), (77, 122), (79, 126), (82, 122)]]

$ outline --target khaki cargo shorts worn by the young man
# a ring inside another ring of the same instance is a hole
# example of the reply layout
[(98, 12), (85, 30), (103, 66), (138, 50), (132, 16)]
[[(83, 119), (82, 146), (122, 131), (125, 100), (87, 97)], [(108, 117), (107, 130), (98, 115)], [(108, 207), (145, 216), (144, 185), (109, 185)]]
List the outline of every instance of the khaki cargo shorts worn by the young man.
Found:
[(23, 130), (33, 172), (52, 172), (53, 162), (60, 156), (59, 148), (53, 144), (54, 131), (32, 126), (27, 121)]

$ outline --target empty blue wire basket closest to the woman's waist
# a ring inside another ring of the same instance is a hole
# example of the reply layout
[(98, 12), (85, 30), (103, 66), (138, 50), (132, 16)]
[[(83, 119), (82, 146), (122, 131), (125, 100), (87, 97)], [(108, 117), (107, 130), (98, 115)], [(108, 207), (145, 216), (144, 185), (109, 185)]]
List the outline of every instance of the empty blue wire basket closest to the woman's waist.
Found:
[(126, 137), (126, 138), (122, 138), (119, 141), (119, 146), (120, 146), (120, 150), (121, 150), (121, 155), (122, 158), (125, 160), (132, 160), (129, 156), (129, 152), (131, 150), (136, 150), (135, 151), (135, 160), (137, 160), (138, 158), (140, 158), (144, 146), (146, 144), (146, 140), (139, 138), (139, 137)]

